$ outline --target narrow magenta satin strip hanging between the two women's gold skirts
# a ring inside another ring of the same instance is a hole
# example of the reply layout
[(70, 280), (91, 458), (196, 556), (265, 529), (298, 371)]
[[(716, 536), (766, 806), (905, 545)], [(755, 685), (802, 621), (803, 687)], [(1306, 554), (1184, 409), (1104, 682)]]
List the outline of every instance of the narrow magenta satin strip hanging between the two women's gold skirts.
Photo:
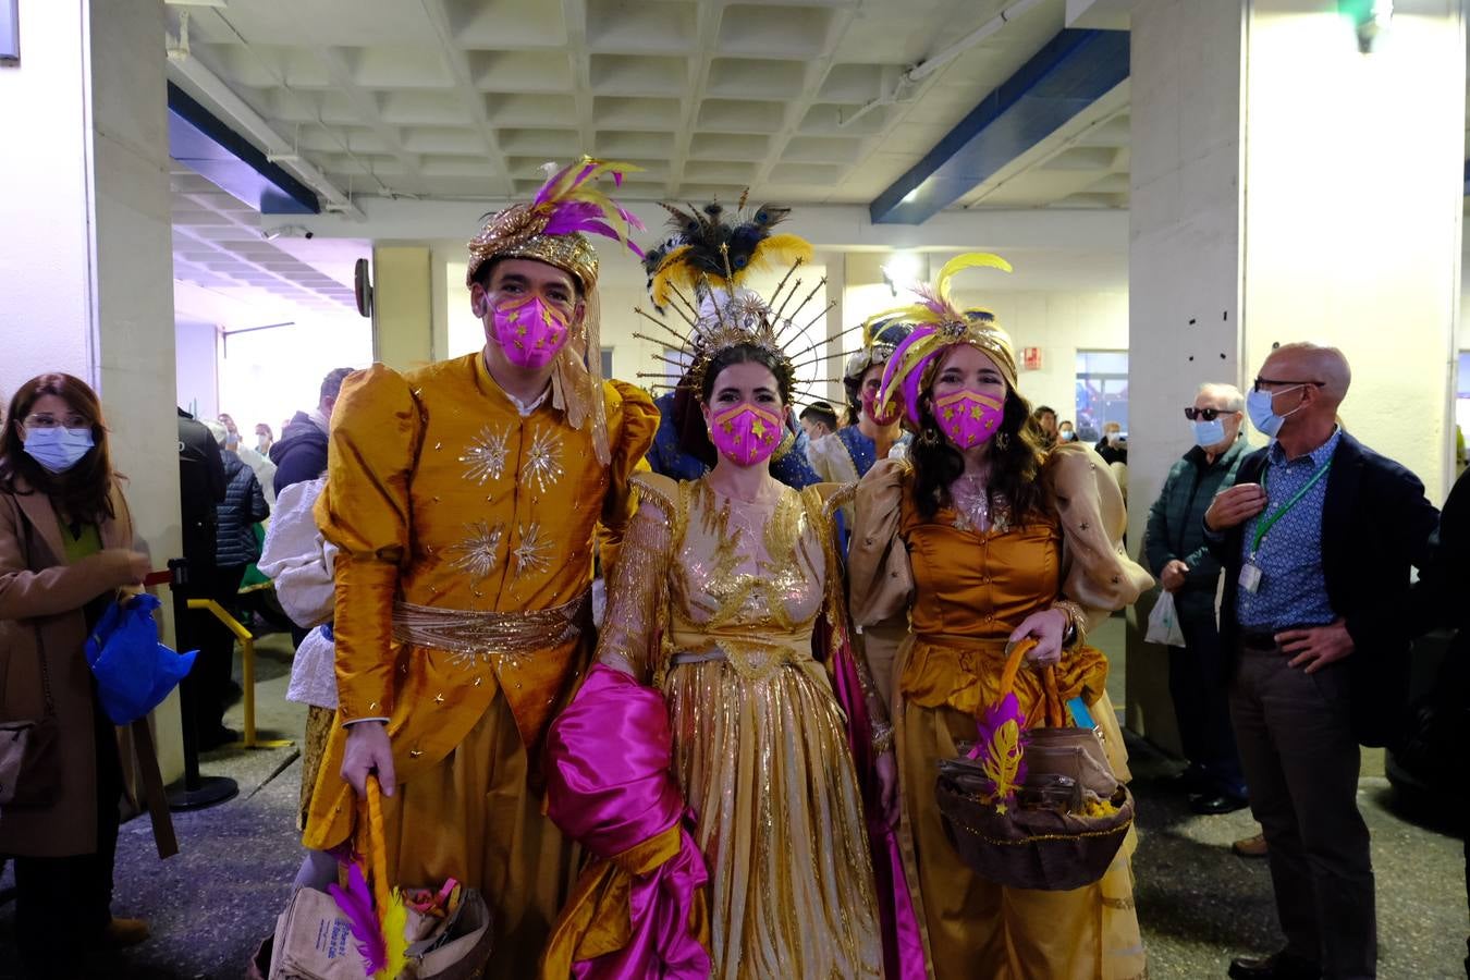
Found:
[[(826, 619), (817, 620), (819, 649), (828, 649)], [(883, 976), (888, 980), (925, 980), (923, 937), (914, 915), (913, 898), (904, 880), (904, 862), (898, 854), (898, 835), (883, 821), (882, 796), (873, 755), (873, 723), (867, 716), (867, 698), (857, 676), (853, 645), (842, 633), (832, 657), (832, 686), (838, 704), (847, 713), (847, 743), (853, 751), (853, 765), (863, 789), (863, 813), (867, 820), (867, 842), (873, 849), (873, 882), (878, 892), (878, 912), (883, 927)]]

